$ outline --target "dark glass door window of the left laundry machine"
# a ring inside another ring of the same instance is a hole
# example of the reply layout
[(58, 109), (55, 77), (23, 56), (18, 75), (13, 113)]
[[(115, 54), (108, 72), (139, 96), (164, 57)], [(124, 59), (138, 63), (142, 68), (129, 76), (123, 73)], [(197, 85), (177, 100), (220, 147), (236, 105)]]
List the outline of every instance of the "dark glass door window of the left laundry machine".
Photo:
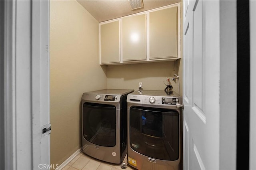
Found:
[(83, 136), (99, 146), (116, 145), (116, 107), (95, 103), (83, 105)]

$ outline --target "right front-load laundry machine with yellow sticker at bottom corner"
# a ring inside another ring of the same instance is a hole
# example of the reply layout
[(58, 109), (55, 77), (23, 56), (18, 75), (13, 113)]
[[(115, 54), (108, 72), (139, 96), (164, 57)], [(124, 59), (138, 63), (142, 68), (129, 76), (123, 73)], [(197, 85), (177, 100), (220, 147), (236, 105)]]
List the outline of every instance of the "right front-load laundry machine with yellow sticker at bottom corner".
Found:
[(138, 170), (183, 169), (182, 97), (135, 91), (127, 97), (128, 164)]

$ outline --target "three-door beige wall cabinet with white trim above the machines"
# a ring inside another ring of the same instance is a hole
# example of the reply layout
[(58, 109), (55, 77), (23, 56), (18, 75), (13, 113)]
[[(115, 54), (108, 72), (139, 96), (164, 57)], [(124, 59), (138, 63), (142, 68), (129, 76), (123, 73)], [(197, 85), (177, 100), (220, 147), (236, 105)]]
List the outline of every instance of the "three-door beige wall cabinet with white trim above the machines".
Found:
[(180, 3), (100, 23), (100, 64), (180, 58)]

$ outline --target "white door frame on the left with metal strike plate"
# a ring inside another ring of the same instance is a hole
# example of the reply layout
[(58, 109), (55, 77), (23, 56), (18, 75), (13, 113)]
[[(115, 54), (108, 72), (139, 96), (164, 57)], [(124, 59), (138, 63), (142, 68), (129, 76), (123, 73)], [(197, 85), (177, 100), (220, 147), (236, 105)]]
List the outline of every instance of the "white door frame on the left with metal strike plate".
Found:
[(49, 1), (1, 1), (2, 9), (1, 169), (49, 169)]

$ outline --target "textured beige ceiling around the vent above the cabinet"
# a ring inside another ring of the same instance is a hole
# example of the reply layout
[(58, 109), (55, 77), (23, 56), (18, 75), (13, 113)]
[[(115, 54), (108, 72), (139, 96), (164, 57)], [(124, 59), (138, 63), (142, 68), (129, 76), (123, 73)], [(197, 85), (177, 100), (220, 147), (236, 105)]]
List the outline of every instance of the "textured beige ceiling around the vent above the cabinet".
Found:
[(143, 0), (143, 8), (131, 10), (128, 0), (77, 0), (98, 22), (174, 4), (180, 0)]

